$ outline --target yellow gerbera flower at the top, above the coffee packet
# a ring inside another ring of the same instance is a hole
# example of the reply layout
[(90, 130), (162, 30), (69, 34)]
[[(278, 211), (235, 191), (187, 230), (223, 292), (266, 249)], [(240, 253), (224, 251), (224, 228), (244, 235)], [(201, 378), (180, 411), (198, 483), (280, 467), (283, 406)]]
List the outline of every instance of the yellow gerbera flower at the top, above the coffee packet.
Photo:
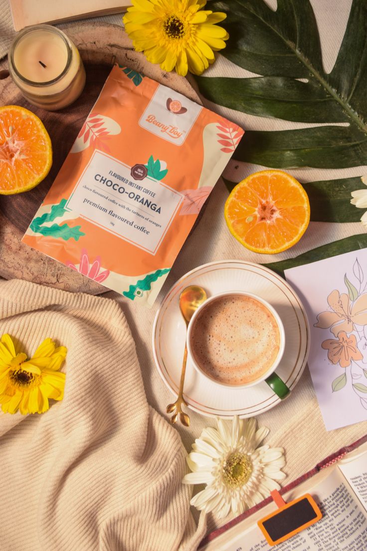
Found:
[(227, 16), (201, 10), (206, 0), (132, 0), (123, 21), (137, 52), (164, 71), (201, 74), (226, 46), (228, 33), (216, 25)]

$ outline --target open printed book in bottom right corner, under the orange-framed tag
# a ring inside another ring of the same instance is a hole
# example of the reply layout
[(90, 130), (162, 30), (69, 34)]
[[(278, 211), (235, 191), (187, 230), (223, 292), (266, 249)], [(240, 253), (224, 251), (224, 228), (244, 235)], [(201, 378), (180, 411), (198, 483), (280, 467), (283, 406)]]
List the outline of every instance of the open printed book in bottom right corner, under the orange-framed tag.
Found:
[(234, 526), (224, 527), (200, 551), (366, 551), (367, 442), (282, 497), (291, 501), (305, 493), (313, 496), (323, 517), (286, 542), (271, 547), (257, 525), (276, 510), (272, 501)]

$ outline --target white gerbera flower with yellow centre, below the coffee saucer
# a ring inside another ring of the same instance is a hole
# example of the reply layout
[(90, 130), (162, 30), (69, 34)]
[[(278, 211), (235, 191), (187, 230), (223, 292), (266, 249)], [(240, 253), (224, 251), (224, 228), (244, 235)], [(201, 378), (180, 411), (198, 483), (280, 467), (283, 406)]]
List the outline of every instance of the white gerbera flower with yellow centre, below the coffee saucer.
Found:
[(268, 433), (265, 426), (256, 430), (254, 418), (234, 417), (231, 428), (217, 419), (217, 429), (204, 429), (187, 457), (192, 472), (182, 481), (206, 484), (191, 505), (223, 518), (231, 511), (239, 515), (280, 489), (276, 480), (286, 477), (283, 448), (258, 447)]

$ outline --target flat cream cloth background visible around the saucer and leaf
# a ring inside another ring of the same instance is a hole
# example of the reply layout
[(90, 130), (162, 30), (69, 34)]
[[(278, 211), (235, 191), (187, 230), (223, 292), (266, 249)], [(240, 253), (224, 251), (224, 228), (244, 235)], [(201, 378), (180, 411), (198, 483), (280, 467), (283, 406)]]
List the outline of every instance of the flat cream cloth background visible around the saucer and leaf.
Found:
[[(310, 1), (319, 26), (324, 67), (326, 71), (330, 71), (344, 35), (352, 0)], [(276, 0), (267, 0), (267, 3), (273, 9), (276, 8)], [(9, 28), (11, 21), (9, 20), (9, 15), (7, 16), (7, 4), (7, 0), (0, 0), (0, 13), (2, 13), (0, 21), (0, 56), (6, 51), (7, 37), (12, 34)], [(120, 23), (120, 17), (116, 15), (104, 17), (101, 20)], [(253, 73), (236, 67), (222, 56), (219, 56), (216, 63), (205, 73), (207, 77), (216, 75), (233, 78), (254, 76)], [(271, 118), (245, 115), (207, 101), (205, 105), (226, 116), (229, 120), (237, 122), (245, 130), (290, 129), (313, 126), (305, 125), (304, 123), (278, 121)], [(230, 161), (226, 171), (224, 171), (224, 175), (229, 180), (239, 181), (251, 172), (261, 170), (262, 168), (261, 166)], [(289, 172), (302, 182), (359, 176), (367, 174), (367, 167), (342, 170), (306, 168), (289, 170)], [(223, 181), (220, 180), (212, 192), (209, 205), (198, 227), (187, 242), (185, 242), (163, 290), (158, 296), (156, 304), (150, 311), (139, 309), (134, 303), (120, 298), (116, 293), (112, 293), (112, 291), (106, 295), (116, 298), (122, 305), (135, 339), (148, 401), (163, 416), (165, 416), (166, 405), (172, 402), (172, 395), (161, 381), (156, 370), (151, 348), (151, 333), (158, 305), (168, 289), (179, 277), (205, 262), (232, 258), (253, 262), (282, 260), (283, 258), (297, 256), (319, 245), (342, 239), (349, 235), (364, 233), (365, 231), (360, 223), (311, 223), (302, 240), (290, 251), (277, 255), (276, 258), (264, 257), (264, 255), (257, 255), (245, 250), (229, 234), (223, 218), (223, 206), (227, 197), (228, 192), (226, 187)], [(363, 211), (361, 210), (362, 213)], [(178, 361), (181, 361), (180, 357)], [(189, 413), (191, 418), (190, 428), (184, 429), (178, 426), (178, 431), (188, 450), (190, 449), (191, 442), (200, 435), (202, 428), (207, 425), (213, 425), (212, 419), (201, 417), (192, 411)], [(287, 467), (284, 470), (287, 472), (288, 477), (284, 481), (284, 484), (314, 467), (325, 456), (344, 445), (350, 444), (358, 437), (367, 433), (367, 422), (332, 431), (331, 433), (325, 431), (308, 369), (305, 370), (292, 396), (276, 408), (260, 415), (258, 420), (260, 424), (269, 426), (271, 429), (268, 442), (272, 445), (284, 446), (286, 448)], [(223, 521), (218, 522), (213, 518), (209, 519), (210, 527), (219, 526), (223, 523)]]

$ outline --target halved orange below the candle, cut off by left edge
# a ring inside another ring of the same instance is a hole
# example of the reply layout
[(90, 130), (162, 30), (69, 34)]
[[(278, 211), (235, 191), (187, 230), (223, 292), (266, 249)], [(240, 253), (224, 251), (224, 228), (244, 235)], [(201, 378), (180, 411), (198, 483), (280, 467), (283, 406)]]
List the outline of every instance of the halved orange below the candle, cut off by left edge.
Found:
[(18, 105), (0, 107), (0, 194), (31, 190), (51, 165), (51, 140), (39, 117)]

